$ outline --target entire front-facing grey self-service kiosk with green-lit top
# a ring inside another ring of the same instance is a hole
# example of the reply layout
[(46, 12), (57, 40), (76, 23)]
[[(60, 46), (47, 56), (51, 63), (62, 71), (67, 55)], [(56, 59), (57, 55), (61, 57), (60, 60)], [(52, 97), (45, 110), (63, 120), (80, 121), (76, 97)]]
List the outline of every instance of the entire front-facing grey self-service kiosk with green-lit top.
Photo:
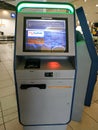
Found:
[(14, 74), (24, 130), (65, 130), (76, 74), (75, 10), (68, 3), (17, 5)]

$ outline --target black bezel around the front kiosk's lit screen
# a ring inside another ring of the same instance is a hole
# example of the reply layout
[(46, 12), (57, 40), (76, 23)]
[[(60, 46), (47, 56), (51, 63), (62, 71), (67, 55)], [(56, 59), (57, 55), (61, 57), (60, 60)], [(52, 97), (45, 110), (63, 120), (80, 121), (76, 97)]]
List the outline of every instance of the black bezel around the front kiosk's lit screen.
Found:
[[(66, 49), (65, 51), (55, 51), (55, 52), (48, 52), (48, 51), (34, 51), (34, 50), (27, 50), (26, 49), (26, 41), (25, 41), (25, 37), (26, 37), (26, 20), (28, 19), (32, 19), (32, 20), (65, 20), (66, 24), (65, 24), (65, 29), (66, 29), (66, 39), (65, 39), (65, 42), (66, 42)], [(69, 48), (68, 48), (68, 18), (57, 18), (57, 17), (52, 17), (52, 18), (47, 18), (47, 17), (24, 17), (24, 25), (23, 25), (23, 52), (32, 52), (32, 53), (69, 53)]]

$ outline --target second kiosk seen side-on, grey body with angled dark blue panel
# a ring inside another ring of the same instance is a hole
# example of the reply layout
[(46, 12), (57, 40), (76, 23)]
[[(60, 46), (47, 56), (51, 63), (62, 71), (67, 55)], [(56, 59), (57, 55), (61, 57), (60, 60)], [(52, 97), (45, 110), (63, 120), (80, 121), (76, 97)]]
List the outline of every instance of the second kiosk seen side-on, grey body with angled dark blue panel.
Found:
[(84, 104), (91, 105), (94, 86), (97, 79), (98, 57), (82, 7), (76, 10), (85, 41), (78, 38), (77, 75), (75, 83), (72, 120), (81, 121)]

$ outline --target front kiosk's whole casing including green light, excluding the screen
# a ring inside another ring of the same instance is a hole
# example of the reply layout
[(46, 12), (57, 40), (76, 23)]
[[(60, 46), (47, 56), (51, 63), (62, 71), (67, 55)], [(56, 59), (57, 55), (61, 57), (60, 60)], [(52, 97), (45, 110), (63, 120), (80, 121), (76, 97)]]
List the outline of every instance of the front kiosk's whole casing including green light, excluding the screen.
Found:
[[(68, 52), (24, 52), (25, 16), (67, 18)], [(14, 75), (19, 122), (24, 130), (65, 130), (71, 120), (76, 75), (74, 7), (68, 3), (20, 2), (15, 39)], [(29, 59), (33, 62), (39, 59), (40, 68), (25, 68)], [(56, 63), (56, 68), (50, 68), (48, 63)]]

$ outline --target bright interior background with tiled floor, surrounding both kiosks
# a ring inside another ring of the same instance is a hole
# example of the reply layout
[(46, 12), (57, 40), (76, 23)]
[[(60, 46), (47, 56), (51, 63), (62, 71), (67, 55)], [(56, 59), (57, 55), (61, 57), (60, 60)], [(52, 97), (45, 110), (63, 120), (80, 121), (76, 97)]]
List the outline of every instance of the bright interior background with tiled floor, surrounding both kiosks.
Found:
[[(18, 121), (13, 76), (15, 6), (19, 1), (0, 0), (0, 130), (23, 130)], [(59, 0), (47, 1), (59, 2)], [(98, 52), (98, 0), (60, 0), (60, 2), (72, 3), (76, 9), (83, 7), (95, 49)], [(77, 16), (76, 29), (83, 34)], [(71, 121), (67, 126), (67, 130), (88, 129), (98, 130), (98, 81), (94, 87), (90, 107), (84, 106), (81, 121)]]

